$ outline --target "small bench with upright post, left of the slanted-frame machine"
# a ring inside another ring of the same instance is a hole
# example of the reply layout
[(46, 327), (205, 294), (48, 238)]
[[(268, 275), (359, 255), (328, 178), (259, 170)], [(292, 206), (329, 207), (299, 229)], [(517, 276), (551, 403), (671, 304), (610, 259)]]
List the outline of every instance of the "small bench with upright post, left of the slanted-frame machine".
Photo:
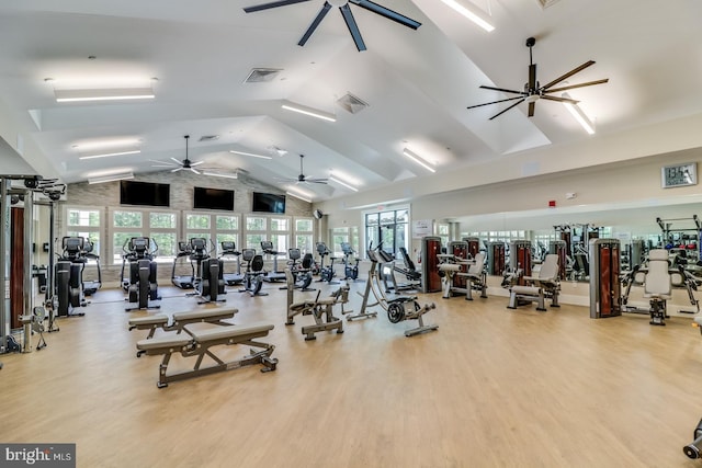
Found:
[(295, 324), (294, 318), (297, 315), (313, 316), (315, 323), (302, 328), (305, 340), (316, 340), (315, 333), (320, 331), (336, 330), (337, 334), (343, 333), (343, 320), (333, 315), (333, 306), (341, 305), (341, 313), (343, 305), (349, 301), (349, 286), (344, 285), (333, 293), (330, 297), (319, 298), (321, 290), (317, 293), (315, 300), (303, 300), (294, 303), (295, 278), (290, 269), (285, 269), (285, 278), (287, 281), (287, 318), (286, 326)]

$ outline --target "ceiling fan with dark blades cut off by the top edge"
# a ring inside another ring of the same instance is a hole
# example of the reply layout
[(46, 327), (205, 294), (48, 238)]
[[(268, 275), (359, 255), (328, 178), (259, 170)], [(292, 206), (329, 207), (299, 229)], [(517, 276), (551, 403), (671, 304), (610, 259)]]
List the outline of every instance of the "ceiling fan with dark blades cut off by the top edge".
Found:
[[(253, 7), (247, 7), (244, 9), (244, 11), (247, 13), (253, 13), (261, 10), (269, 10), (272, 8), (285, 7), (288, 4), (302, 3), (307, 1), (310, 1), (310, 0), (279, 0), (270, 3), (261, 3)], [(317, 26), (319, 26), (319, 23), (321, 23), (321, 20), (324, 20), (324, 18), (327, 15), (329, 10), (331, 10), (332, 7), (338, 7), (339, 11), (341, 12), (341, 15), (343, 16), (343, 21), (346, 21), (347, 26), (349, 27), (351, 37), (353, 37), (355, 47), (359, 49), (359, 52), (365, 50), (366, 49), (365, 43), (363, 42), (363, 37), (361, 36), (361, 31), (359, 30), (359, 26), (355, 23), (353, 13), (351, 12), (351, 8), (349, 8), (349, 3), (359, 5), (365, 10), (372, 11), (373, 13), (380, 14), (381, 16), (387, 18), (388, 20), (393, 20), (404, 26), (411, 27), (412, 30), (416, 30), (419, 26), (421, 26), (420, 22), (415, 21), (411, 18), (407, 18), (403, 14), (399, 14), (377, 3), (373, 3), (370, 0), (326, 0), (325, 4), (321, 7), (321, 10), (319, 10), (319, 13), (317, 13), (317, 16), (314, 19), (314, 21), (312, 22), (312, 24), (309, 25), (309, 27), (307, 28), (303, 37), (299, 39), (297, 45), (304, 46), (309, 39), (309, 37), (313, 35), (315, 30), (317, 28)]]

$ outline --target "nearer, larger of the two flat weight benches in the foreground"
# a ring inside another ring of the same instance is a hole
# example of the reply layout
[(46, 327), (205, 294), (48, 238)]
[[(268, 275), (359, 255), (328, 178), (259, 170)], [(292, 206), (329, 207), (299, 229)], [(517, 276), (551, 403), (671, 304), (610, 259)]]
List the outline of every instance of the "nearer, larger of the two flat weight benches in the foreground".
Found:
[[(250, 327), (217, 327), (211, 324), (189, 324), (184, 327), (185, 334), (170, 334), (154, 339), (140, 340), (136, 343), (139, 353), (146, 355), (163, 355), (159, 365), (158, 388), (167, 387), (169, 383), (199, 377), (202, 375), (215, 374), (224, 370), (231, 370), (252, 364), (261, 364), (261, 372), (275, 370), (276, 358), (271, 358), (275, 346), (268, 343), (253, 341), (256, 338), (265, 336), (273, 330), (272, 324), (253, 324)], [(217, 357), (210, 349), (218, 345), (247, 344), (249, 346), (261, 347), (261, 351), (250, 351), (250, 354), (238, 359), (225, 363)], [(192, 370), (181, 370), (168, 374), (168, 363), (173, 353), (180, 353), (183, 357), (196, 356)], [(215, 361), (215, 365), (201, 367), (203, 358), (210, 356)]]

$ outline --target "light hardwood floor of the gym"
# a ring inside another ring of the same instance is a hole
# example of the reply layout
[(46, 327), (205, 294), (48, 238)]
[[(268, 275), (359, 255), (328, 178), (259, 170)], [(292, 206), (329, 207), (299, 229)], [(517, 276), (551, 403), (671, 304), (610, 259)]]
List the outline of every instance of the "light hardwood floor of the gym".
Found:
[[(240, 309), (237, 324), (275, 324), (261, 341), (275, 344), (278, 370), (165, 389), (160, 356), (135, 356), (146, 333), (127, 331), (147, 312), (100, 290), (86, 317), (46, 334), (48, 347), (0, 356), (0, 441), (76, 443), (78, 466), (91, 468), (700, 466), (682, 454), (702, 418), (702, 336), (689, 318), (652, 327), (432, 294), (420, 300), (437, 304), (426, 316), (437, 332), (405, 338), (414, 322), (381, 313), (306, 342), (312, 318), (285, 327), (286, 293), (264, 288), (229, 288), (226, 306)], [(208, 307), (161, 293), (163, 312)]]

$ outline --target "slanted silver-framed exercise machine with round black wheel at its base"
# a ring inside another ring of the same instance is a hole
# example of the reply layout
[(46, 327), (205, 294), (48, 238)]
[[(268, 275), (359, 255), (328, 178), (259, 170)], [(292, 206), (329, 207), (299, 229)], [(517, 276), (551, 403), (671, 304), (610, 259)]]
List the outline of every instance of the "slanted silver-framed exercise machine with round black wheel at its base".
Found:
[[(363, 301), (361, 305), (361, 311), (358, 316), (349, 316), (349, 320), (352, 318), (367, 318), (375, 317), (374, 312), (366, 312), (367, 307), (381, 306), (387, 312), (387, 319), (390, 323), (399, 323), (404, 320), (417, 320), (419, 326), (405, 331), (405, 336), (414, 336), (419, 333), (434, 331), (439, 328), (435, 324), (424, 324), (423, 316), (437, 306), (434, 304), (426, 304), (420, 306), (417, 301), (417, 296), (395, 295), (388, 297), (381, 287), (380, 273), (377, 271), (378, 252), (382, 251), (382, 242), (376, 249), (370, 248), (367, 250), (369, 259), (371, 260), (371, 270), (369, 271), (369, 281), (365, 284), (365, 292), (363, 294)], [(439, 274), (437, 273), (437, 276)], [(375, 303), (369, 304), (371, 294), (375, 297)]]

